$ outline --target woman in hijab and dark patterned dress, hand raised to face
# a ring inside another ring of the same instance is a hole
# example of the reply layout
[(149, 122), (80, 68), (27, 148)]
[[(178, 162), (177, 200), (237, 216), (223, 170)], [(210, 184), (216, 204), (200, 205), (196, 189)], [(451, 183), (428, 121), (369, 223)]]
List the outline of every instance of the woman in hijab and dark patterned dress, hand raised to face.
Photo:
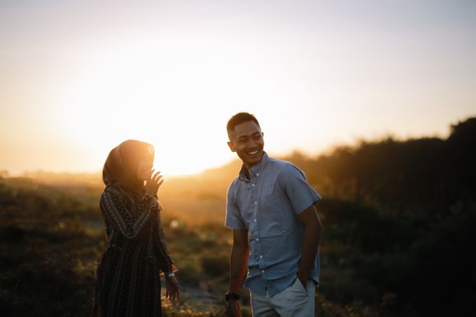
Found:
[(160, 171), (154, 174), (153, 160), (151, 144), (127, 140), (104, 164), (100, 208), (107, 249), (97, 267), (93, 316), (161, 316), (160, 272), (167, 298), (179, 297), (176, 267), (160, 226), (157, 192), (163, 180)]

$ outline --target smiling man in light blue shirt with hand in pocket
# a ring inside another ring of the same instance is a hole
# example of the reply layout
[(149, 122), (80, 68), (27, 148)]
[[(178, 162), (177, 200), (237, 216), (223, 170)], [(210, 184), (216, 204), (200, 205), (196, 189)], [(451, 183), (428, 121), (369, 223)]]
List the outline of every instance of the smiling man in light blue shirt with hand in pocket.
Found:
[(258, 120), (237, 113), (227, 125), (228, 146), (243, 161), (228, 188), (225, 225), (233, 230), (229, 316), (241, 316), (239, 290), (251, 290), (253, 316), (314, 316), (319, 279), (321, 196), (290, 162), (264, 152)]

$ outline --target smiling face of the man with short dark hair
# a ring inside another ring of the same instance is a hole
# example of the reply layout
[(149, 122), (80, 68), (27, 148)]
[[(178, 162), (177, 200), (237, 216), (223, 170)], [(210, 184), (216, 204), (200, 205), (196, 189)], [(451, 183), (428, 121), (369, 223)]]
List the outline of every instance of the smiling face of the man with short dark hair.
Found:
[(265, 140), (260, 126), (253, 121), (246, 121), (230, 131), (230, 150), (236, 152), (246, 169), (261, 161)]

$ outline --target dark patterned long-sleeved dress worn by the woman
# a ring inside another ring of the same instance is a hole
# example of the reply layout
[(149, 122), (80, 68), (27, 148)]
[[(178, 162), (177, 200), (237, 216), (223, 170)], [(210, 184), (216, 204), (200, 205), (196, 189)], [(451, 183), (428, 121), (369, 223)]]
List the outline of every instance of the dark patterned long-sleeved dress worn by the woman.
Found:
[[(160, 203), (159, 203), (160, 204)], [(97, 267), (93, 316), (161, 316), (160, 271), (174, 269), (156, 199), (109, 185), (100, 208), (107, 249)]]

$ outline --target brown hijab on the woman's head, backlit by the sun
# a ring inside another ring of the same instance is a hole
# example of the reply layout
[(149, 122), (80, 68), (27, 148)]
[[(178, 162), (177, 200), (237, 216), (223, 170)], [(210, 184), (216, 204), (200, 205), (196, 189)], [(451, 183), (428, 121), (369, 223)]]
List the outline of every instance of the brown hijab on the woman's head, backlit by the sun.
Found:
[(113, 148), (109, 153), (102, 180), (106, 186), (117, 184), (131, 192), (139, 192), (144, 181), (137, 178), (137, 169), (141, 160), (154, 160), (152, 144), (137, 140), (127, 140)]

